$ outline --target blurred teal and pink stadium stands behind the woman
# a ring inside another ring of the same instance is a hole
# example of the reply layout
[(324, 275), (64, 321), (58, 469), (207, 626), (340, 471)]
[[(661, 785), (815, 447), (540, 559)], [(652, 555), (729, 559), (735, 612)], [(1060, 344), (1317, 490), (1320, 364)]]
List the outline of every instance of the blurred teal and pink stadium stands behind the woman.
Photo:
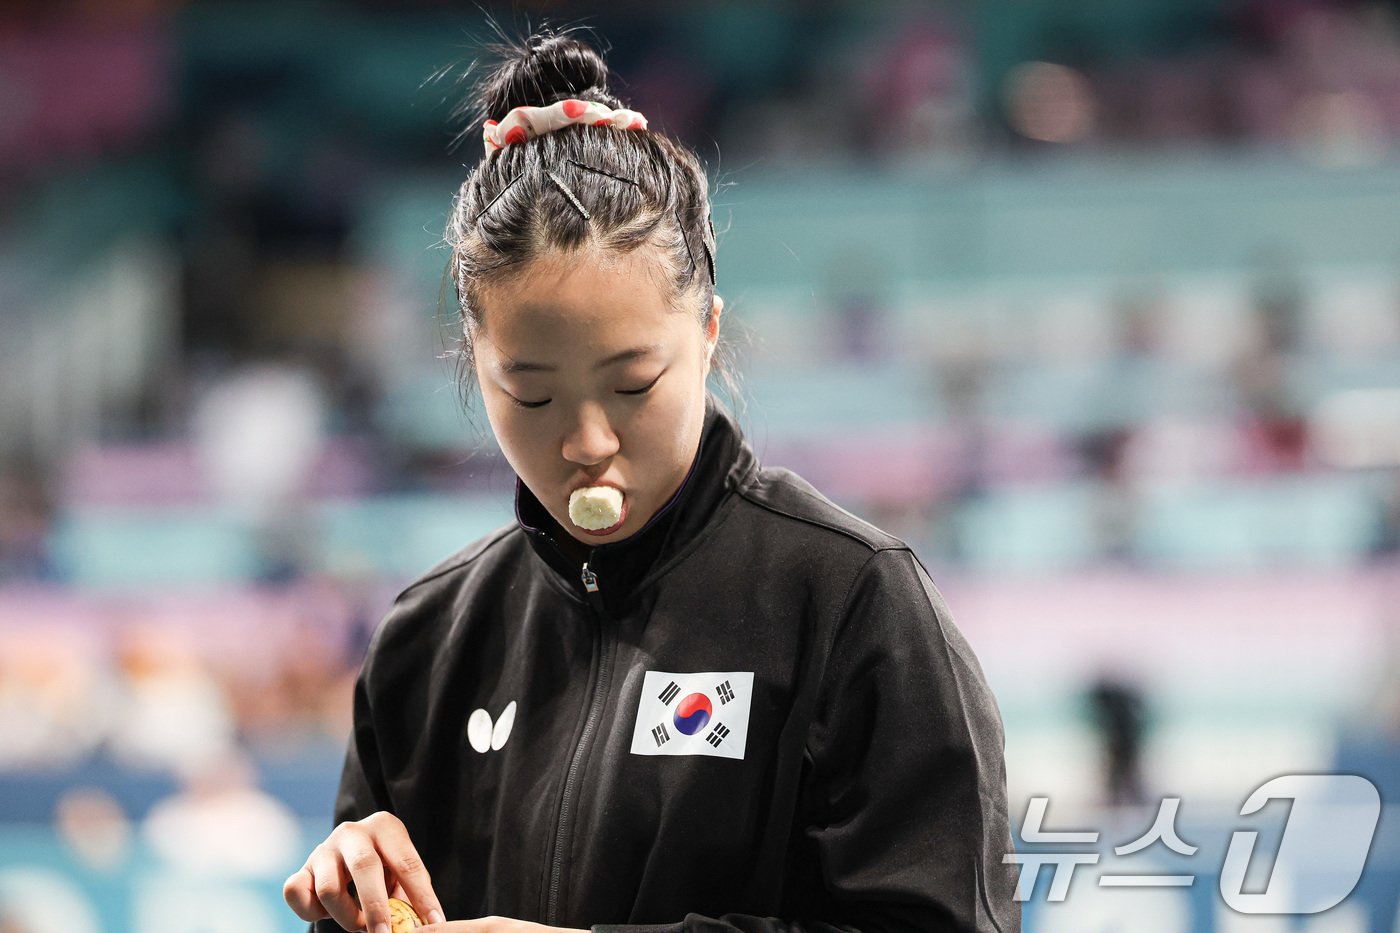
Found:
[[(1182, 799), (1193, 887), (1042, 884), (1025, 929), (1400, 930), (1389, 810), (1333, 911), (1215, 890), (1270, 778), (1400, 794), (1400, 4), (491, 11), (595, 27), (708, 163), (749, 437), (917, 548), (1014, 821)], [(486, 36), (0, 8), (4, 933), (301, 929), (368, 633), (511, 517), (440, 305), (477, 143), (430, 78)]]

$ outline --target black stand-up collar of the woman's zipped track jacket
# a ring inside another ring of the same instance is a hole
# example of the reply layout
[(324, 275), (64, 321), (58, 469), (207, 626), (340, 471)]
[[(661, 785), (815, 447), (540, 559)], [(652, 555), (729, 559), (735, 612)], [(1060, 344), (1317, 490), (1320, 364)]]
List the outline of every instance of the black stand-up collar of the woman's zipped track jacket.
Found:
[[(609, 611), (620, 611), (647, 574), (665, 565), (696, 538), (714, 516), (729, 489), (757, 469), (757, 459), (738, 423), (720, 402), (706, 394), (704, 427), (690, 471), (680, 488), (651, 520), (622, 541), (598, 545), (588, 567), (598, 574), (599, 591)], [(571, 593), (582, 595), (581, 565), (554, 544), (567, 535), (525, 483), (515, 479), (515, 520), (535, 553), (563, 577)]]

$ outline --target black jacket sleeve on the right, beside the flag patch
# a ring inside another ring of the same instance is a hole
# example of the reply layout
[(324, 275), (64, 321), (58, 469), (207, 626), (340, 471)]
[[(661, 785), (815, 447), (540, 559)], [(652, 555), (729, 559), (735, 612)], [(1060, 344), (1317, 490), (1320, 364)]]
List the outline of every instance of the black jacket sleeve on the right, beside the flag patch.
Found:
[(594, 933), (1019, 933), (1001, 713), (907, 549), (876, 551), (846, 600), (808, 737), (801, 838), (825, 916), (697, 913)]

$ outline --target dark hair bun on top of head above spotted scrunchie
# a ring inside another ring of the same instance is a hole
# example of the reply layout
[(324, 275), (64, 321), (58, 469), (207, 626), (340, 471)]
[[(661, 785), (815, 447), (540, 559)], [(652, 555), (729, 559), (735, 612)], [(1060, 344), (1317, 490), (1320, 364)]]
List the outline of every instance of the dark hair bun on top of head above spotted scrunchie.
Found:
[(608, 92), (608, 63), (592, 46), (567, 34), (532, 36), (503, 49), (501, 64), (482, 84), (482, 111), (504, 119), (517, 106), (547, 106), (577, 97), (612, 108), (622, 102)]

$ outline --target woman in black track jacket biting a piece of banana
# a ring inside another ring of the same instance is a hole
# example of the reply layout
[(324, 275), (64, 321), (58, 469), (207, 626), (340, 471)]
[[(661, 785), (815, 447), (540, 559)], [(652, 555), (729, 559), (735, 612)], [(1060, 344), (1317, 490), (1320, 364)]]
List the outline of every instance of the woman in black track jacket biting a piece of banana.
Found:
[(448, 244), (517, 520), (378, 629), (287, 902), (322, 933), (384, 933), (391, 895), (442, 932), (1018, 930), (1001, 719), (942, 597), (707, 392), (697, 158), (571, 35), (482, 105)]

